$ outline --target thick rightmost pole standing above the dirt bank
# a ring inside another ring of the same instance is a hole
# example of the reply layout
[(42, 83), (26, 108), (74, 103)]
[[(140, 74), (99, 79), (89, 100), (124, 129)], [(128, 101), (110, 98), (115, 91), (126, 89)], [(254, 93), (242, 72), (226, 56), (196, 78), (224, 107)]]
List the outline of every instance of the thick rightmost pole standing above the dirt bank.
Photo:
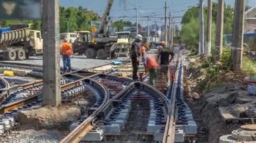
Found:
[(245, 0), (236, 0), (234, 7), (234, 27), (232, 36), (232, 69), (241, 70), (243, 60)]

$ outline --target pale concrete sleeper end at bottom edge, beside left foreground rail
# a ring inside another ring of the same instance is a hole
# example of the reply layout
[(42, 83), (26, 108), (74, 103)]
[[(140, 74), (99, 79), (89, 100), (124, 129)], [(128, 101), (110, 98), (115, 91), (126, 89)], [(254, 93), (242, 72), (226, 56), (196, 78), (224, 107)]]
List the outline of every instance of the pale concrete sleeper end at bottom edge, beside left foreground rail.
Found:
[(101, 141), (103, 139), (103, 130), (97, 130), (96, 132), (88, 132), (81, 141)]

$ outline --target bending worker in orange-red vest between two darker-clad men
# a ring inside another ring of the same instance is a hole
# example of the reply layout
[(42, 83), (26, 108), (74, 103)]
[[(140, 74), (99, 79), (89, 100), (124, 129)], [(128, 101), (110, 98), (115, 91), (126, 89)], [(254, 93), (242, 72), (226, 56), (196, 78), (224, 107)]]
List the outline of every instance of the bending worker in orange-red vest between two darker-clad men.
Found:
[(156, 79), (156, 70), (158, 68), (158, 63), (154, 58), (148, 56), (146, 58), (146, 68), (150, 73), (150, 85), (154, 85), (154, 81)]

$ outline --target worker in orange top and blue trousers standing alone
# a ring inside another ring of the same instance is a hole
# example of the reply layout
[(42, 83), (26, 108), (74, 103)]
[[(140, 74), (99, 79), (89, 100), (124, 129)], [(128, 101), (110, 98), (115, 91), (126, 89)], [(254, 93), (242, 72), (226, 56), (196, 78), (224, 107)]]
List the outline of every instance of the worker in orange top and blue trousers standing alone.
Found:
[(61, 44), (61, 54), (63, 56), (63, 71), (70, 72), (71, 71), (71, 56), (73, 54), (73, 48), (70, 44), (67, 43), (67, 40), (63, 40)]

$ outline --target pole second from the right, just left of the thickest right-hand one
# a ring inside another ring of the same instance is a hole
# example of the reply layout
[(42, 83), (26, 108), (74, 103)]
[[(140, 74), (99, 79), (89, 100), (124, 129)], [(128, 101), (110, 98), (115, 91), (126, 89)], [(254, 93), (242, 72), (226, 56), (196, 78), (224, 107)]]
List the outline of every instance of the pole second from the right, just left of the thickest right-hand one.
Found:
[(222, 44), (223, 44), (223, 23), (224, 23), (224, 0), (218, 0), (217, 11), (217, 25), (216, 25), (216, 60), (220, 61), (222, 58)]

